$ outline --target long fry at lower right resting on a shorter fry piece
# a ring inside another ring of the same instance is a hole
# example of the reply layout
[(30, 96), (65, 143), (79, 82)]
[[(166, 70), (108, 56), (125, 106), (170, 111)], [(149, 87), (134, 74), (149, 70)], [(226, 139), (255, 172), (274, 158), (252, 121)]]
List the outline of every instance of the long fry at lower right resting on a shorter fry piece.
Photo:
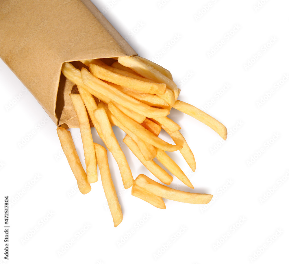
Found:
[(213, 195), (206, 193), (188, 193), (180, 190), (175, 190), (170, 187), (164, 186), (144, 174), (140, 174), (134, 183), (143, 188), (149, 193), (163, 197), (177, 202), (189, 204), (207, 204), (212, 200)]

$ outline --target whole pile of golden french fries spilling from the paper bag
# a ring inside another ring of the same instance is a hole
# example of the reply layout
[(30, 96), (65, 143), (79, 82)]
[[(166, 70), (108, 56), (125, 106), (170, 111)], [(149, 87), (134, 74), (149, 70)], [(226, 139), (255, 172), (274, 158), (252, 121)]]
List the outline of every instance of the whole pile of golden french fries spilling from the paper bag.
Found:
[[(127, 159), (116, 139), (112, 126), (126, 133), (123, 142), (140, 162), (162, 183), (169, 185), (173, 177), (194, 189), (192, 183), (166, 154), (180, 151), (192, 171), (196, 169), (194, 155), (179, 132), (181, 127), (167, 117), (171, 108), (184, 112), (208, 125), (224, 140), (227, 129), (219, 121), (198, 108), (178, 100), (180, 89), (173, 82), (171, 73), (163, 67), (139, 56), (108, 59), (81, 60), (84, 67), (79, 70), (65, 62), (62, 73), (77, 85), (78, 93), (71, 93), (84, 148), (86, 172), (81, 165), (71, 133), (57, 128), (64, 154), (83, 194), (97, 182), (97, 165), (108, 201), (114, 226), (118, 226), (123, 214), (110, 175), (106, 149), (93, 142), (90, 120), (104, 145), (118, 164), (123, 186), (132, 187), (131, 194), (157, 208), (165, 209), (162, 198), (191, 204), (207, 204), (212, 195), (190, 193), (169, 188), (144, 174), (133, 178)], [(89, 119), (90, 118), (90, 119)], [(175, 142), (169, 144), (158, 137), (165, 130)], [(156, 158), (168, 170), (162, 169)]]

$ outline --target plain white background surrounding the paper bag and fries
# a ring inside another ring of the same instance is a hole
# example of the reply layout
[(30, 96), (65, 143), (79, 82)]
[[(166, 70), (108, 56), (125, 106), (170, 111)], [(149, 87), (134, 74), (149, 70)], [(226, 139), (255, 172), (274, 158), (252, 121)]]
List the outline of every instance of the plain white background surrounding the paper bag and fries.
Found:
[[(55, 124), (1, 61), (0, 197), (2, 204), (4, 195), (11, 202), (7, 263), (288, 263), (288, 1), (262, 0), (257, 10), (257, 0), (94, 3), (101, 11), (109, 9), (105, 17), (140, 56), (157, 59), (171, 71), (181, 100), (207, 106), (206, 112), (226, 125), (223, 143), (192, 117), (177, 110), (170, 115), (195, 155), (196, 172), (179, 152), (172, 157), (189, 176), (193, 191), (213, 194), (213, 201), (204, 206), (166, 200), (165, 210), (154, 208), (131, 196), (131, 189), (124, 191), (110, 155), (124, 215), (114, 228), (100, 177), (87, 195), (74, 191), (66, 158), (57, 157), (61, 146)], [(214, 48), (218, 50), (209, 55)], [(262, 56), (245, 69), (258, 52)], [(32, 130), (36, 133), (20, 147)], [(78, 129), (71, 132), (79, 134)], [(123, 132), (115, 132), (121, 142)], [(95, 131), (93, 136), (100, 143)], [(75, 144), (84, 163), (81, 140)], [(156, 180), (127, 147), (123, 150), (134, 177), (145, 173)], [(177, 179), (171, 187), (190, 191)], [(78, 236), (85, 225), (88, 230)], [(59, 256), (71, 239), (75, 243)]]

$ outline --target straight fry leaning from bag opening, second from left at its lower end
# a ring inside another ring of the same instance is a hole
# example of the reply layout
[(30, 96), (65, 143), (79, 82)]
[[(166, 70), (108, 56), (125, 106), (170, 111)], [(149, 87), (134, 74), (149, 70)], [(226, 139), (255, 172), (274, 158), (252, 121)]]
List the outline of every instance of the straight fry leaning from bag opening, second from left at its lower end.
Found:
[(84, 150), (87, 181), (89, 183), (97, 182), (97, 161), (86, 108), (79, 94), (71, 93), (70, 98), (79, 123)]

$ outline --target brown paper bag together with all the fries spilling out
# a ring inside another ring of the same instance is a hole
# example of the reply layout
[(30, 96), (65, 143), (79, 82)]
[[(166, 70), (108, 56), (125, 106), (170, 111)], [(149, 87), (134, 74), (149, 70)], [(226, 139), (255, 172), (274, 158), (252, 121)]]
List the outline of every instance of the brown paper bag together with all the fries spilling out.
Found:
[[(227, 129), (214, 117), (178, 100), (181, 90), (167, 69), (137, 56), (89, 0), (67, 0), (65, 4), (3, 0), (0, 10), (6, 10), (0, 12), (1, 59), (57, 125), (79, 191), (90, 192), (101, 178), (114, 226), (121, 223), (123, 214), (107, 151), (116, 160), (124, 188), (132, 187), (133, 196), (157, 208), (166, 208), (163, 198), (191, 204), (211, 201), (210, 194), (167, 186), (175, 176), (194, 189), (167, 152), (180, 152), (192, 171), (196, 169), (193, 149), (182, 136), (180, 124), (167, 116), (175, 108), (208, 125), (224, 140)], [(125, 132), (123, 142), (147, 168), (147, 175), (132, 173), (112, 130), (114, 125)], [(78, 128), (84, 167), (68, 130)], [(94, 143), (94, 129), (102, 145)], [(159, 137), (162, 129), (171, 137), (170, 143)]]

